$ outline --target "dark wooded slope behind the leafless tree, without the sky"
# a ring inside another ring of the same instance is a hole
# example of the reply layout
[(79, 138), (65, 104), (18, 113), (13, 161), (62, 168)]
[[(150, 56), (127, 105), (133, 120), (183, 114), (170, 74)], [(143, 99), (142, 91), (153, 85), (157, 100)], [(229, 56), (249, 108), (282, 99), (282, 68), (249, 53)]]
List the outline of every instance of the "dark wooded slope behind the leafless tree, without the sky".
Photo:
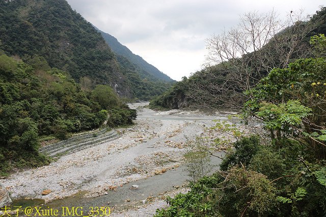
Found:
[[(170, 90), (152, 100), (150, 106), (152, 108), (189, 106), (209, 110), (240, 109), (250, 97), (244, 94), (247, 90), (241, 87), (243, 84), (254, 87), (261, 78), (268, 75), (271, 69), (285, 68), (296, 59), (314, 57), (309, 40), (311, 36), (326, 34), (325, 18), (324, 7), (310, 20), (297, 22), (274, 35), (260, 50), (248, 52), (241, 58), (230, 58), (228, 62), (203, 68), (188, 79), (184, 78)], [(243, 41), (242, 38), (240, 39)], [(291, 43), (288, 43), (289, 41)], [(268, 55), (265, 55), (266, 53)], [(242, 69), (244, 70), (241, 72)], [(253, 76), (247, 76), (243, 72), (253, 72)], [(240, 79), (246, 76), (250, 81), (248, 83), (247, 80)]]

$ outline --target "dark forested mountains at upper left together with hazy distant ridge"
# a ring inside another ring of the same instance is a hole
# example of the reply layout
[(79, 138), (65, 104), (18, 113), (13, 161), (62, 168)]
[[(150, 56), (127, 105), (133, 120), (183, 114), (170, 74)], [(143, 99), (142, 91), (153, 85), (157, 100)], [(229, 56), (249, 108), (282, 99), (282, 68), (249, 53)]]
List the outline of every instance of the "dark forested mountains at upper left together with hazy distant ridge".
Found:
[(35, 70), (58, 68), (75, 81), (87, 77), (92, 87), (110, 84), (119, 95), (142, 100), (161, 94), (173, 82), (118, 41), (128, 52), (116, 57), (92, 24), (64, 0), (1, 0), (0, 8), (0, 50)]

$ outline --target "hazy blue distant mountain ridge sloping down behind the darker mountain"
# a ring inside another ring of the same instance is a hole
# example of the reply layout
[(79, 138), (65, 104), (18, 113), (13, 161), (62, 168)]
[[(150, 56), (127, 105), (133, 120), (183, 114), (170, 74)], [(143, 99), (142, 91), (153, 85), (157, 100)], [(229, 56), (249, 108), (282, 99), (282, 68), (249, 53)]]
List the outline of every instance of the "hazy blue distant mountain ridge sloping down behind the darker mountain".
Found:
[(118, 39), (116, 39), (110, 34), (100, 31), (99, 29), (97, 30), (99, 33), (101, 33), (106, 43), (111, 47), (111, 49), (116, 53), (116, 55), (127, 58), (132, 64), (138, 66), (141, 69), (141, 74), (143, 76), (156, 78), (165, 82), (173, 82), (173, 79), (171, 77), (162, 73), (151, 64), (147, 63), (142, 57), (132, 53), (131, 50), (129, 50), (128, 47), (122, 45), (118, 41)]

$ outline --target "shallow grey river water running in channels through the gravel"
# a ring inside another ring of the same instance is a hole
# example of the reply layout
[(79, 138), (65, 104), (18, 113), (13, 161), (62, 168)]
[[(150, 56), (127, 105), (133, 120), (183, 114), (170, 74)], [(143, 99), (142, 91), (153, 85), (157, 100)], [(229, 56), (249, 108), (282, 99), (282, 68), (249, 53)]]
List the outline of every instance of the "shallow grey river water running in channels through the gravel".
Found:
[[(212, 119), (219, 119), (219, 120), (226, 120), (226, 117), (216, 117), (212, 118), (211, 116), (205, 115), (169, 115), (169, 114), (162, 114), (157, 115), (154, 111), (145, 109), (146, 111), (142, 111), (138, 117), (138, 119), (159, 119), (159, 120), (185, 120), (185, 121), (200, 121), (200, 120), (212, 120)], [(156, 115), (155, 115), (156, 114)], [(158, 138), (159, 139), (159, 138)], [(140, 147), (132, 147), (129, 151), (134, 153), (145, 152), (146, 149), (151, 148), (156, 140), (149, 141), (146, 146)], [(123, 154), (123, 153), (121, 153)], [(222, 153), (215, 153), (222, 155)], [(218, 157), (211, 157), (211, 164), (215, 165), (214, 170), (218, 169), (218, 165), (220, 164), (221, 159)], [(155, 197), (159, 193), (164, 193), (166, 191), (171, 191), (174, 186), (182, 186), (189, 177), (187, 176), (187, 172), (185, 171), (184, 166), (180, 166), (176, 169), (169, 170), (161, 175), (155, 175), (148, 177), (146, 179), (141, 179), (134, 182), (129, 182), (124, 184), (122, 187), (118, 186), (117, 191), (108, 191), (107, 195), (102, 195), (95, 198), (84, 198), (83, 196), (86, 192), (79, 192), (78, 194), (66, 197), (63, 199), (55, 200), (44, 204), (43, 200), (16, 200), (12, 204), (12, 206), (35, 206), (40, 205), (42, 209), (58, 209), (62, 210), (62, 207), (68, 207), (71, 210), (72, 207), (83, 207), (84, 208), (84, 215), (87, 215), (89, 211), (89, 207), (102, 207), (102, 206), (122, 206), (128, 205), (126, 200), (130, 200), (130, 202), (134, 201), (144, 201), (149, 196)], [(133, 189), (132, 185), (139, 185), (137, 189)], [(86, 213), (85, 213), (86, 211)], [(57, 216), (64, 216), (60, 215), (62, 212), (59, 212)], [(24, 216), (24, 215), (21, 215)]]

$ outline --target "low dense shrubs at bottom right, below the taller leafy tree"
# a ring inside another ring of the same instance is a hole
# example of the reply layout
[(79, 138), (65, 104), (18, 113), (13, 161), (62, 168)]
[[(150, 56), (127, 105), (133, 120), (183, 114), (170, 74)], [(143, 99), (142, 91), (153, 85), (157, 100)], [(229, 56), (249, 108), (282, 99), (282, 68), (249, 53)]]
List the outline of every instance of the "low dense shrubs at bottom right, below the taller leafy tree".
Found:
[[(309, 161), (303, 164), (298, 160), (306, 146), (292, 140), (265, 146), (255, 137), (237, 143), (235, 151), (221, 164), (220, 172), (198, 180), (187, 194), (168, 198), (170, 207), (157, 210), (157, 216), (323, 216), (326, 213), (323, 182), (317, 180), (324, 180), (324, 168), (311, 158), (311, 152), (306, 152)], [(200, 207), (209, 207), (209, 211)]]

